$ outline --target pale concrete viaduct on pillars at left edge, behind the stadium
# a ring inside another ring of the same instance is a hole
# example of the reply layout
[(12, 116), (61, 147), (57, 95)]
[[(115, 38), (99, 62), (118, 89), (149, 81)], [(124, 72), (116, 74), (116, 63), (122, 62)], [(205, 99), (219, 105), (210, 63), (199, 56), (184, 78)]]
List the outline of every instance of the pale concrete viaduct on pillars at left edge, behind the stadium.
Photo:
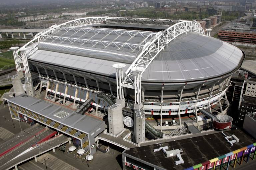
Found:
[(13, 33), (18, 33), (19, 37), (21, 36), (20, 33), (23, 34), (23, 37), (26, 38), (25, 33), (29, 33), (31, 36), (33, 36), (33, 33), (40, 33), (43, 29), (0, 29), (0, 39), (2, 38), (2, 33), (6, 33), (6, 36), (8, 37), (8, 33), (11, 34), (12, 38), (14, 38)]

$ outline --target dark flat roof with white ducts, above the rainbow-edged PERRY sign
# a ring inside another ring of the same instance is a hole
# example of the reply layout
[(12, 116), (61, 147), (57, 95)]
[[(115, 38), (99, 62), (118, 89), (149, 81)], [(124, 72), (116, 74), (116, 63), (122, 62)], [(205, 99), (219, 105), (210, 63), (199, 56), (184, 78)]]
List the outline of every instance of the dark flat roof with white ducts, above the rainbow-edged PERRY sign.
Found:
[[(231, 146), (221, 133), (215, 133), (205, 136), (193, 137), (188, 139), (182, 139), (172, 142), (166, 142), (162, 144), (154, 144), (148, 146), (141, 146), (125, 150), (123, 153), (154, 164), (164, 169), (186, 169), (191, 166), (206, 162), (210, 159), (222, 156), (229, 152), (241, 149), (256, 142), (256, 140), (249, 136), (242, 130), (226, 131), (226, 135), (234, 134), (239, 138), (240, 142)], [(178, 159), (176, 156), (167, 158), (162, 150), (154, 152), (153, 149), (157, 149), (162, 146), (168, 146), (169, 150), (182, 149), (184, 154), (181, 155), (184, 160), (184, 164), (175, 165), (175, 161)]]

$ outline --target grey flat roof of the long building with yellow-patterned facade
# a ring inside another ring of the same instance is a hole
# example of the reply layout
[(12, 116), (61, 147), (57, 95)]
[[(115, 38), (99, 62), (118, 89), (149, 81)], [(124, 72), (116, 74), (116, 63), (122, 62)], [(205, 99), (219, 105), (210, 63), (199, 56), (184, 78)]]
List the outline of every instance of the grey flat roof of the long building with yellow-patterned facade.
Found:
[(88, 115), (77, 114), (72, 110), (27, 96), (26, 94), (11, 98), (8, 101), (88, 134), (105, 124), (100, 119)]

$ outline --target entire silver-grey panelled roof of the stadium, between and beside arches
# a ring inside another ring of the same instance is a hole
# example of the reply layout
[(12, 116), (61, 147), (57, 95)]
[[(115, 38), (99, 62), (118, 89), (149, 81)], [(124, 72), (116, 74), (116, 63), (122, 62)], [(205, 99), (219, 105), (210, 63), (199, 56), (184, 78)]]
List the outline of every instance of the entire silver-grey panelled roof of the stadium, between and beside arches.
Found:
[[(115, 20), (114, 18), (113, 21)], [(115, 25), (136, 25), (132, 19), (128, 19), (127, 22), (124, 22), (125, 20), (117, 19)], [(107, 19), (107, 22), (109, 21)], [(138, 56), (141, 56), (145, 46), (160, 33), (91, 27), (97, 24), (82, 27), (68, 24), (57, 26), (50, 34), (42, 34), (38, 50), (29, 55), (29, 59), (115, 77), (113, 64), (125, 63), (126, 67), (123, 70), (129, 70)], [(149, 27), (150, 23), (145, 26)], [(232, 72), (240, 67), (243, 59), (242, 51), (228, 43), (196, 32), (181, 33), (157, 53), (154, 62), (145, 67), (142, 81), (205, 80)]]

